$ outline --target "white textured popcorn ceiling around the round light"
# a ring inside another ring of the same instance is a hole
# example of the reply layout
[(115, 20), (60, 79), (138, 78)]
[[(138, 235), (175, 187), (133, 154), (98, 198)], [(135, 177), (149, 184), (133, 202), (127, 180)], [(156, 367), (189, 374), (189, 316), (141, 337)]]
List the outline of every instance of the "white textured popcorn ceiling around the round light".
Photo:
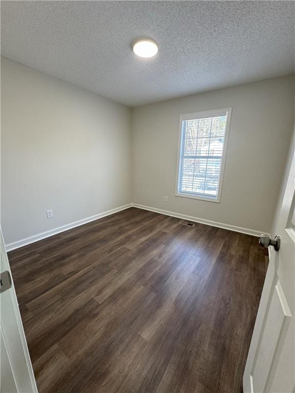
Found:
[(3, 56), (129, 106), (295, 72), (294, 2), (1, 3)]

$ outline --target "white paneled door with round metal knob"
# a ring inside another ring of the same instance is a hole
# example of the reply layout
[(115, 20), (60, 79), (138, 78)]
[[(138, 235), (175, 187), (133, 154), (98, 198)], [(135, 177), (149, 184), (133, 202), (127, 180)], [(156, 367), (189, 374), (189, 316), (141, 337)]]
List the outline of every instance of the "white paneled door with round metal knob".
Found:
[(295, 154), (243, 378), (244, 393), (295, 392)]

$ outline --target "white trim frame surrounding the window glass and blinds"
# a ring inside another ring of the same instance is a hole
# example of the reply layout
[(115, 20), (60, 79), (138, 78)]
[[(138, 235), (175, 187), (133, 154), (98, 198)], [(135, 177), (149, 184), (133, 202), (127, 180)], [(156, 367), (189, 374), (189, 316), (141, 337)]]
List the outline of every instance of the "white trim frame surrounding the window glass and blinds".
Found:
[[(224, 167), (225, 167), (225, 160), (227, 154), (227, 144), (228, 144), (228, 135), (229, 135), (229, 126), (230, 126), (230, 119), (231, 119), (231, 110), (232, 108), (222, 108), (216, 109), (212, 111), (203, 111), (203, 112), (196, 112), (196, 113), (188, 113), (184, 115), (180, 115), (179, 119), (179, 134), (178, 134), (178, 149), (177, 149), (177, 170), (176, 170), (176, 187), (175, 187), (175, 196), (182, 197), (182, 198), (190, 198), (190, 199), (198, 199), (202, 201), (208, 202), (216, 202), (220, 203), (221, 200), (221, 190), (222, 190), (222, 183), (223, 183), (223, 176), (224, 176)], [(220, 176), (219, 176), (219, 184), (218, 184), (218, 192), (216, 197), (210, 197), (209, 195), (204, 194), (202, 196), (201, 193), (189, 193), (189, 192), (179, 192), (179, 181), (180, 181), (180, 155), (182, 151), (182, 121), (183, 120), (194, 120), (194, 119), (204, 119), (206, 117), (216, 117), (216, 116), (225, 116), (226, 115), (226, 122), (225, 122), (225, 133), (224, 133), (224, 142), (223, 142), (223, 150), (221, 156), (221, 167), (220, 167)]]

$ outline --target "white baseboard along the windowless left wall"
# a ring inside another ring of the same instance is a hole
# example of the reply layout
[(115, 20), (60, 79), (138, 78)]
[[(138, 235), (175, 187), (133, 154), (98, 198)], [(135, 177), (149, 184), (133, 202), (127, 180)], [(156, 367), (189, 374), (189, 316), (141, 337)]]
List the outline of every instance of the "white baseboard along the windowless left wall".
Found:
[(27, 237), (27, 238), (22, 239), (22, 240), (18, 240), (17, 242), (9, 243), (9, 244), (5, 245), (5, 249), (6, 249), (7, 252), (15, 250), (16, 248), (20, 248), (20, 247), (26, 246), (27, 244), (38, 242), (38, 240), (45, 239), (46, 237), (56, 235), (57, 233), (65, 232), (65, 231), (67, 231), (69, 229), (72, 229), (72, 228), (75, 228), (75, 227), (79, 227), (80, 225), (84, 225), (84, 224), (90, 223), (91, 221), (102, 219), (102, 217), (106, 217), (107, 215), (117, 213), (118, 211), (129, 209), (132, 206), (133, 206), (133, 204), (129, 203), (128, 205), (116, 207), (115, 209), (111, 209), (111, 210), (104, 211), (104, 212), (99, 213), (99, 214), (92, 215), (91, 217), (87, 217), (87, 219), (82, 219), (82, 220), (79, 220), (79, 221), (75, 221), (74, 223), (70, 223), (70, 224), (67, 224), (67, 225), (62, 225), (61, 227), (54, 228), (54, 229), (51, 229), (51, 230), (46, 231), (46, 232), (39, 233), (39, 234), (34, 235), (34, 236), (30, 236), (30, 237)]

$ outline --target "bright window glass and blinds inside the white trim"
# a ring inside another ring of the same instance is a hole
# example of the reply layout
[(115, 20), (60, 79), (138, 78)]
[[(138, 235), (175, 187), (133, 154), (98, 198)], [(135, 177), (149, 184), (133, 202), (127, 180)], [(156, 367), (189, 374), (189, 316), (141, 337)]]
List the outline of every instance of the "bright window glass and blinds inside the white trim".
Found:
[(178, 191), (217, 197), (226, 116), (182, 121)]

